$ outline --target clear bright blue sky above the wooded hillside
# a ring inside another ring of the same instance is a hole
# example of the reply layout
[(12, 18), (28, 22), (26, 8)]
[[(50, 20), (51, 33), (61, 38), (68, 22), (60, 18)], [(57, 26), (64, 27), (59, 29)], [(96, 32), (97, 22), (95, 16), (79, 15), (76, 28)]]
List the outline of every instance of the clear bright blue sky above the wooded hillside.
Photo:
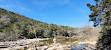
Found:
[(0, 8), (24, 15), (48, 24), (83, 27), (89, 23), (93, 0), (0, 0)]

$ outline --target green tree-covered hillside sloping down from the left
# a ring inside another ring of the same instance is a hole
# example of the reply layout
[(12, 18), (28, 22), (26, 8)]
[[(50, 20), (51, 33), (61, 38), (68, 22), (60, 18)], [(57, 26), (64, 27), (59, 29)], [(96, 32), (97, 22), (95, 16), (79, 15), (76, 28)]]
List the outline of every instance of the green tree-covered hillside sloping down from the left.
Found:
[(7, 36), (9, 38), (10, 36), (13, 38), (70, 37), (74, 35), (74, 28), (47, 24), (0, 8), (0, 34), (1, 39), (6, 39)]

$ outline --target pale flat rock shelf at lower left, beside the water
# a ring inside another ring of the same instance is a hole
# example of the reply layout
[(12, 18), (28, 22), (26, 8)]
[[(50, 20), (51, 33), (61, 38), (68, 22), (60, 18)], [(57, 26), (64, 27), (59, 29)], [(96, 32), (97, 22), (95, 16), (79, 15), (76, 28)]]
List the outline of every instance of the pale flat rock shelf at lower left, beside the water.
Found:
[(46, 39), (26, 39), (12, 42), (0, 42), (0, 50), (30, 50), (31, 48), (37, 49), (36, 47), (39, 47), (43, 44), (42, 42), (39, 42), (40, 40)]

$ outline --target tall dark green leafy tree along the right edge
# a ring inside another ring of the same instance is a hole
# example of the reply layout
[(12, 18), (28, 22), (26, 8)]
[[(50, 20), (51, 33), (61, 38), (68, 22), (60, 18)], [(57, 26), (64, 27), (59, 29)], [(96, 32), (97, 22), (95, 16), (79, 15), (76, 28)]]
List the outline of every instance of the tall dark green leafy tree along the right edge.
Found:
[(90, 21), (94, 26), (101, 26), (101, 37), (98, 40), (98, 48), (111, 49), (111, 0), (95, 0), (96, 4), (87, 4), (90, 8)]

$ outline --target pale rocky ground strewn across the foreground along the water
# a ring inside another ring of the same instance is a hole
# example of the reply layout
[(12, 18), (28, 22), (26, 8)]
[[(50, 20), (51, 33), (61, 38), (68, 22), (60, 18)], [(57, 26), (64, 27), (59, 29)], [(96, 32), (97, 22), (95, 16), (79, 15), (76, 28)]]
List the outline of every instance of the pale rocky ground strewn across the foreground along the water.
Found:
[[(17, 41), (6, 41), (0, 42), (0, 50), (71, 50), (70, 45), (61, 45), (60, 43), (52, 43), (49, 46), (44, 46), (41, 40), (46, 39), (22, 39)], [(85, 42), (80, 42), (79, 44), (84, 44)], [(88, 43), (88, 42), (87, 42)], [(94, 42), (91, 42), (94, 44)], [(73, 47), (74, 48), (74, 47)], [(79, 45), (77, 46), (79, 48)], [(94, 50), (94, 46), (87, 46), (85, 50)], [(83, 49), (83, 50), (84, 50)]]

